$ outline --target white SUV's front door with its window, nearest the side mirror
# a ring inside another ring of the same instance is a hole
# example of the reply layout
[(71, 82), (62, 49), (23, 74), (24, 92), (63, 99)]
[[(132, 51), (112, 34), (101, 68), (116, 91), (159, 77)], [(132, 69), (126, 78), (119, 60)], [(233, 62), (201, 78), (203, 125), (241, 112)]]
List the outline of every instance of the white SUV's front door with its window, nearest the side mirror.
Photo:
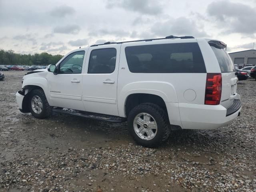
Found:
[(52, 106), (84, 110), (82, 103), (82, 66), (85, 51), (73, 52), (56, 66), (58, 74), (49, 73)]

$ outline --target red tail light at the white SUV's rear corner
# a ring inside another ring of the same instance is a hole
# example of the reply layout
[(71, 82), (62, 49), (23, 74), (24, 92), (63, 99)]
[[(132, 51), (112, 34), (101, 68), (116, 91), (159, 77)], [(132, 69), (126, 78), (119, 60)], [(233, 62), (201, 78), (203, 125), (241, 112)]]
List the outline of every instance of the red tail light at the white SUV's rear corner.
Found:
[(204, 104), (218, 105), (220, 104), (222, 89), (221, 73), (207, 73)]

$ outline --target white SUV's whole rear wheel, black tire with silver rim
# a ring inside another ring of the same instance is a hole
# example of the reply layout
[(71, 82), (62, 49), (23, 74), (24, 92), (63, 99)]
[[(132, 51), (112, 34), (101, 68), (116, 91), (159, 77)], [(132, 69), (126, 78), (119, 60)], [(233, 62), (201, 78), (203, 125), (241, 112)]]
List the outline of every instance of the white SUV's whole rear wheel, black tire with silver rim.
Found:
[(134, 107), (128, 114), (128, 130), (145, 147), (156, 147), (170, 135), (170, 123), (164, 109), (152, 103)]

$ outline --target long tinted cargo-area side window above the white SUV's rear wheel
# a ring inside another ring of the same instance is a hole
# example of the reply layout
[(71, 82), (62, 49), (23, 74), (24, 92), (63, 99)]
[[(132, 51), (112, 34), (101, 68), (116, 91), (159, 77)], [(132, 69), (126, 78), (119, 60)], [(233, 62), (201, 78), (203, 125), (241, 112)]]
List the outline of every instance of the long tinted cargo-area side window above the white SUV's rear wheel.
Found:
[(133, 73), (205, 73), (197, 43), (130, 46), (126, 60)]

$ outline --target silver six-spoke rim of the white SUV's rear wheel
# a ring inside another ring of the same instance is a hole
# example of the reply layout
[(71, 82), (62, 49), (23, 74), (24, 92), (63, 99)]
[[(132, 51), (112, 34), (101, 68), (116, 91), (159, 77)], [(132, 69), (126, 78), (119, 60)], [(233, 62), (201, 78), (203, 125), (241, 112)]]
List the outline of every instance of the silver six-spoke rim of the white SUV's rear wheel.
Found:
[(136, 115), (133, 128), (137, 136), (143, 140), (152, 140), (157, 134), (156, 120), (148, 113)]

